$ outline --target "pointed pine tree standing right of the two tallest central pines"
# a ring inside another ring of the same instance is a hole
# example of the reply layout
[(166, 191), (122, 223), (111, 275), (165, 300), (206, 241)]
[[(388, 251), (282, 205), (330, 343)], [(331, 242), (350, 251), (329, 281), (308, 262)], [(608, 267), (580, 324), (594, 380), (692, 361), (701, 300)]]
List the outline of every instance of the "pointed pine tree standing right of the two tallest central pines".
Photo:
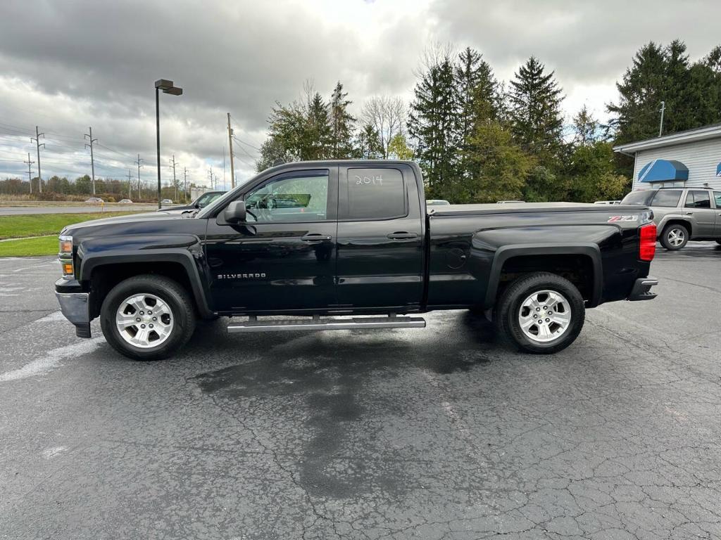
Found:
[(510, 121), (516, 142), (552, 165), (562, 146), (562, 90), (554, 72), (531, 56), (510, 81)]

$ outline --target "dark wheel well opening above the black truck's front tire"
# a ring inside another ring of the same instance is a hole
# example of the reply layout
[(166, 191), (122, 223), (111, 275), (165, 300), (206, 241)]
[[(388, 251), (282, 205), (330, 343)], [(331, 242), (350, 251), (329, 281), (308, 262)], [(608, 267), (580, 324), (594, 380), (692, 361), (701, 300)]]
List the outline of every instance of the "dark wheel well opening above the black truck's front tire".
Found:
[(180, 263), (154, 262), (151, 267), (147, 263), (103, 264), (92, 269), (92, 274), (90, 275), (90, 298), (92, 300), (90, 317), (95, 318), (100, 314), (102, 301), (112, 287), (115, 287), (115, 285), (129, 277), (139, 276), (141, 274), (165, 276), (179, 283), (190, 296), (193, 307), (195, 307), (196, 310), (198, 309), (187, 271)]

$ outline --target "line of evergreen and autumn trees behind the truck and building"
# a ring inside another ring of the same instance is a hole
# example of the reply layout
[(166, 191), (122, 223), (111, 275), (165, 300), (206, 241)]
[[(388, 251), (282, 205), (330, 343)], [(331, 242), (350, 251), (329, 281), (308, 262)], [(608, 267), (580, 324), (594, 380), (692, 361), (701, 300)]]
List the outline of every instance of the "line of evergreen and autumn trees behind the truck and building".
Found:
[(276, 103), (259, 171), (278, 161), (415, 159), (428, 197), (455, 203), (617, 199), (631, 186), (632, 159), (613, 145), (721, 120), (721, 47), (695, 62), (680, 40), (644, 45), (602, 125), (586, 107), (562, 113), (562, 87), (528, 58), (504, 83), (473, 48), (433, 48), (421, 59), (410, 104), (373, 96), (353, 117), (340, 81), (328, 99), (310, 83), (291, 104)]

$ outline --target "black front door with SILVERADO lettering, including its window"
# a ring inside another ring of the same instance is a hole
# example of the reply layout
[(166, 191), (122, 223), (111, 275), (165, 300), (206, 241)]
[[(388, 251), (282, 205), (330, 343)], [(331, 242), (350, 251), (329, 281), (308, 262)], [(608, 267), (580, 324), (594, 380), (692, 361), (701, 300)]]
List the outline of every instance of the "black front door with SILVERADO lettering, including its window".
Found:
[(335, 304), (337, 167), (280, 173), (242, 198), (246, 222), (208, 222), (214, 309), (313, 311)]

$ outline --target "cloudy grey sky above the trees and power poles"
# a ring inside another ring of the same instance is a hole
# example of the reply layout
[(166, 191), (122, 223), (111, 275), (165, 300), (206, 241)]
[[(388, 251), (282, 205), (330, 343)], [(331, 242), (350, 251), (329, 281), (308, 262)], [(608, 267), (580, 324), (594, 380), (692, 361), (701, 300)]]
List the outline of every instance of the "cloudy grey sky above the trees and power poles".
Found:
[(226, 112), (243, 179), (271, 107), (306, 79), (325, 95), (342, 81), (354, 107), (375, 94), (410, 100), (430, 43), (477, 48), (503, 80), (536, 55), (556, 72), (567, 117), (586, 104), (603, 120), (641, 45), (679, 37), (695, 60), (721, 42), (720, 20), (718, 0), (2, 0), (0, 178), (27, 175), (38, 125), (43, 178), (89, 173), (92, 126), (97, 176), (136, 176), (140, 153), (154, 179), (153, 83), (169, 78), (184, 94), (161, 98), (163, 178), (174, 153), (189, 181), (207, 184), (212, 166), (222, 186)]

